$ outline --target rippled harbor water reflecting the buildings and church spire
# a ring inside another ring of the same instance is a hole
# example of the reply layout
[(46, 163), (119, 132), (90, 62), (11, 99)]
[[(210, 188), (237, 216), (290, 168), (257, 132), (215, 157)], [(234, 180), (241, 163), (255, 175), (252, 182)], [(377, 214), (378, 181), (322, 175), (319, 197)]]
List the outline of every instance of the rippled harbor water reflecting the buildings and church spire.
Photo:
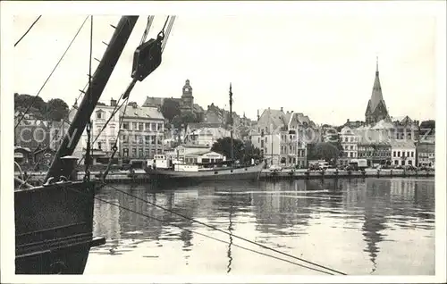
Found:
[(113, 187), (124, 193), (97, 193), (93, 234), (107, 242), (87, 275), (325, 275), (237, 237), (349, 275), (434, 275), (434, 178)]

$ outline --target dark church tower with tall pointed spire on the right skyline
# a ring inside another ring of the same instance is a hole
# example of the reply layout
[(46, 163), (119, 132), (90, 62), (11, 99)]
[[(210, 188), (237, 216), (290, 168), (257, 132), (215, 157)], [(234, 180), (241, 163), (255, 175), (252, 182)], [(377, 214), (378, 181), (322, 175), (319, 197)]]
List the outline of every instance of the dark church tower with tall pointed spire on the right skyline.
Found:
[(375, 80), (373, 86), (373, 93), (367, 103), (367, 111), (365, 112), (365, 121), (367, 124), (375, 124), (378, 121), (390, 120), (388, 110), (382, 95), (382, 87), (379, 79), (379, 61), (376, 59), (375, 63)]

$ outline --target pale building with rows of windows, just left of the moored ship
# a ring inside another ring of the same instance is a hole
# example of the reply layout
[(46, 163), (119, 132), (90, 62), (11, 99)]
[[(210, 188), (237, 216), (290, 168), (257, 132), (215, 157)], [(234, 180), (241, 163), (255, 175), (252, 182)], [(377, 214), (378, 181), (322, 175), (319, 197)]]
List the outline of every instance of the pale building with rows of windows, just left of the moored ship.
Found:
[(164, 116), (156, 107), (128, 105), (122, 116), (120, 155), (130, 160), (152, 159), (163, 154)]

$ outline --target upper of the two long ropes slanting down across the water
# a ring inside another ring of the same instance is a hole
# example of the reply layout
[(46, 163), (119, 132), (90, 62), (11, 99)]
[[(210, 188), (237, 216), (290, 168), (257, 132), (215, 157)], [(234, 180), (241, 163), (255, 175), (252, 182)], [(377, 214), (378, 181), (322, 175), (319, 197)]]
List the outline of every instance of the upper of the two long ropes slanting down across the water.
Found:
[(210, 229), (213, 229), (213, 230), (220, 231), (220, 232), (222, 232), (222, 233), (224, 233), (224, 234), (226, 234), (226, 235), (232, 236), (232, 238), (239, 238), (239, 239), (241, 239), (241, 240), (243, 240), (243, 241), (246, 241), (246, 242), (248, 242), (248, 243), (250, 243), (250, 244), (252, 244), (252, 245), (256, 245), (256, 246), (260, 246), (260, 247), (262, 247), (262, 248), (266, 248), (266, 249), (268, 249), (268, 250), (274, 251), (275, 253), (278, 253), (278, 254), (281, 254), (281, 255), (286, 255), (286, 256), (288, 256), (288, 257), (291, 257), (291, 258), (293, 258), (293, 259), (299, 260), (299, 261), (301, 261), (301, 262), (309, 263), (309, 264), (315, 265), (315, 266), (317, 266), (317, 267), (326, 269), (326, 270), (328, 270), (328, 271), (333, 271), (333, 272), (336, 272), (336, 273), (340, 273), (340, 274), (342, 274), (342, 275), (347, 275), (346, 273), (343, 273), (342, 271), (336, 271), (336, 270), (333, 270), (332, 268), (325, 267), (324, 265), (321, 265), (321, 264), (317, 264), (317, 263), (313, 263), (313, 262), (307, 261), (307, 260), (305, 260), (305, 259), (299, 258), (298, 256), (290, 255), (290, 254), (284, 253), (284, 252), (282, 252), (282, 251), (276, 250), (276, 249), (274, 249), (274, 248), (272, 248), (272, 247), (269, 247), (269, 246), (264, 246), (264, 245), (262, 245), (262, 244), (259, 244), (259, 243), (255, 242), (255, 241), (252, 241), (252, 240), (250, 240), (250, 239), (248, 239), (248, 238), (243, 238), (243, 237), (236, 236), (236, 235), (232, 234), (231, 232), (229, 233), (229, 232), (227, 232), (227, 231), (225, 231), (225, 230), (221, 230), (221, 229), (216, 228), (215, 226), (209, 225), (209, 224), (207, 224), (207, 223), (205, 223), (205, 222), (198, 221), (198, 220), (196, 220), (196, 219), (193, 219), (193, 218), (190, 218), (190, 217), (188, 217), (188, 216), (185, 216), (185, 215), (183, 215), (183, 214), (181, 214), (181, 213), (176, 213), (176, 212), (174, 212), (173, 210), (164, 208), (163, 206), (156, 205), (155, 203), (152, 203), (152, 202), (150, 202), (150, 201), (148, 201), (148, 200), (146, 200), (146, 199), (140, 198), (139, 196), (133, 196), (133, 195), (131, 195), (130, 193), (127, 193), (127, 192), (125, 192), (125, 191), (123, 191), (123, 190), (121, 190), (121, 189), (119, 189), (119, 188), (115, 188), (115, 187), (113, 187), (113, 186), (111, 186), (111, 185), (107, 185), (107, 186), (108, 186), (109, 188), (113, 188), (113, 189), (115, 189), (116, 191), (121, 192), (122, 194), (124, 194), (124, 195), (126, 195), (126, 196), (131, 196), (132, 198), (135, 198), (135, 199), (137, 199), (137, 200), (143, 201), (143, 202), (147, 203), (148, 205), (153, 205), (153, 206), (155, 206), (156, 208), (162, 209), (162, 210), (164, 210), (164, 211), (166, 211), (166, 212), (169, 212), (169, 213), (173, 213), (173, 214), (175, 214), (175, 215), (177, 215), (177, 216), (180, 216), (181, 218), (184, 218), (184, 219), (186, 219), (186, 220), (194, 221), (194, 222), (196, 222), (196, 223), (198, 223), (198, 224), (200, 224), (200, 225), (206, 226), (207, 228), (210, 228)]

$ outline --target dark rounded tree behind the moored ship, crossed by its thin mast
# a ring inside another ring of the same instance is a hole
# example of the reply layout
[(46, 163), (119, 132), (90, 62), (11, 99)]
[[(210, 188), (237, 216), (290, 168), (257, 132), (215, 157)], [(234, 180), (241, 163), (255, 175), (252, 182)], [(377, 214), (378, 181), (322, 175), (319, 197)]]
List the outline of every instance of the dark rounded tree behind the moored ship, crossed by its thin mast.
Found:
[[(227, 159), (232, 157), (232, 139), (229, 137), (219, 138), (211, 147), (211, 151), (225, 155)], [(240, 163), (250, 163), (251, 159), (261, 160), (261, 151), (253, 146), (250, 141), (243, 142), (240, 139), (233, 139), (233, 157)]]

